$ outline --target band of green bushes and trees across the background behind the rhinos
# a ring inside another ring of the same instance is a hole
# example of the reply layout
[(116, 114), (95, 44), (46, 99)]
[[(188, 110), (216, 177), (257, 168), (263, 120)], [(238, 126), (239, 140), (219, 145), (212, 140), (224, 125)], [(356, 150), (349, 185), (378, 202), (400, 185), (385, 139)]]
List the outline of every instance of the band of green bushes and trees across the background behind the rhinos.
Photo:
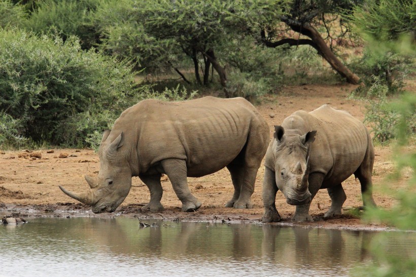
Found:
[(385, 103), (414, 70), (412, 1), (0, 0), (0, 14), (2, 148), (91, 147), (148, 97), (337, 82), (361, 82), (384, 142)]

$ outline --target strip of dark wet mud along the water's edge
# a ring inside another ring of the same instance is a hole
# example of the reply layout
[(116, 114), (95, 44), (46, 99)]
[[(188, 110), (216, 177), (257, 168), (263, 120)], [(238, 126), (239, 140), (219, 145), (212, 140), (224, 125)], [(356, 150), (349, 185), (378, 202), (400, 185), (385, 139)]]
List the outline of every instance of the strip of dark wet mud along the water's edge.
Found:
[(137, 212), (140, 205), (131, 204), (119, 207), (114, 213), (94, 214), (90, 207), (83, 204), (73, 203), (57, 203), (57, 204), (41, 204), (41, 205), (15, 205), (2, 204), (0, 206), (1, 216), (22, 217), (30, 222), (30, 218), (38, 217), (56, 217), (56, 218), (72, 218), (72, 217), (95, 217), (102, 219), (110, 219), (115, 217), (138, 218), (141, 220), (163, 220), (167, 222), (203, 222), (203, 223), (222, 223), (222, 224), (257, 224), (257, 225), (276, 225), (276, 226), (301, 226), (304, 228), (323, 228), (323, 229), (339, 229), (339, 230), (365, 230), (365, 231), (394, 231), (394, 228), (383, 224), (364, 223), (361, 219), (347, 214), (342, 214), (333, 219), (324, 220), (321, 215), (314, 217), (314, 222), (297, 223), (290, 218), (283, 218), (280, 222), (262, 223), (262, 215), (235, 215), (221, 214), (212, 215), (204, 214), (203, 210), (184, 213), (178, 211), (163, 211), (158, 213)]

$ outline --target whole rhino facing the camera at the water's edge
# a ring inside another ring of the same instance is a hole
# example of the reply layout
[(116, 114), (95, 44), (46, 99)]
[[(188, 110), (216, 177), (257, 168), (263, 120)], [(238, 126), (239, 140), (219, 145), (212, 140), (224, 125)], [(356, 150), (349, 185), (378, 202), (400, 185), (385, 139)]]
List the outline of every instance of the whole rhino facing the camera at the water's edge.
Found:
[(324, 105), (310, 113), (297, 111), (274, 128), (265, 157), (263, 222), (280, 221), (275, 206), (278, 190), (288, 204), (296, 205), (294, 221), (313, 221), (309, 206), (319, 189), (327, 189), (331, 197), (324, 218), (340, 215), (346, 199), (341, 183), (353, 174), (361, 183), (364, 206), (375, 206), (374, 148), (358, 119)]

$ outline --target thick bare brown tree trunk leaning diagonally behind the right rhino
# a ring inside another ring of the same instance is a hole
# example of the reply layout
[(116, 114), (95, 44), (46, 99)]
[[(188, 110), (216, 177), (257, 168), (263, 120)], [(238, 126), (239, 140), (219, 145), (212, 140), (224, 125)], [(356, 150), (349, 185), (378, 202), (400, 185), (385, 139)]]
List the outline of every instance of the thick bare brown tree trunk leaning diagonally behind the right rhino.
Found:
[(305, 23), (302, 26), (296, 26), (288, 24), (294, 31), (300, 32), (304, 36), (309, 37), (318, 49), (319, 54), (331, 65), (331, 67), (347, 82), (357, 85), (360, 83), (360, 78), (348, 69), (331, 51), (328, 45), (325, 43), (321, 34), (310, 24)]

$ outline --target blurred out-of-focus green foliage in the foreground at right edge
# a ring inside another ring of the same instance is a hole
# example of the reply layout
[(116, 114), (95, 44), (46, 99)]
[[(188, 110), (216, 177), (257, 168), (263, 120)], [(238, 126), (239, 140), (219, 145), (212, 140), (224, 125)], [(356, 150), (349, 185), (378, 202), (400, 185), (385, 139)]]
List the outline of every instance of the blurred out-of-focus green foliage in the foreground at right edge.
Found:
[[(398, 201), (390, 209), (370, 209), (364, 218), (371, 222), (382, 222), (402, 230), (416, 230), (416, 153), (414, 153), (414, 137), (408, 129), (413, 124), (416, 114), (416, 95), (405, 93), (399, 100), (391, 104), (391, 109), (398, 115), (398, 143), (393, 151), (396, 164), (395, 171), (384, 184), (384, 189)], [(411, 147), (413, 146), (413, 148)], [(413, 149), (413, 150), (412, 150)], [(409, 151), (410, 150), (410, 151)], [(406, 177), (404, 177), (406, 176)], [(392, 188), (393, 184), (403, 183), (400, 189)], [(399, 233), (406, 237), (408, 233)], [(413, 235), (414, 233), (411, 233)], [(395, 234), (397, 236), (397, 234)], [(405, 240), (404, 238), (403, 240)], [(374, 263), (356, 269), (356, 276), (414, 276), (416, 275), (416, 253), (410, 255), (391, 254), (386, 247), (390, 234), (379, 234), (370, 245), (374, 255)]]

